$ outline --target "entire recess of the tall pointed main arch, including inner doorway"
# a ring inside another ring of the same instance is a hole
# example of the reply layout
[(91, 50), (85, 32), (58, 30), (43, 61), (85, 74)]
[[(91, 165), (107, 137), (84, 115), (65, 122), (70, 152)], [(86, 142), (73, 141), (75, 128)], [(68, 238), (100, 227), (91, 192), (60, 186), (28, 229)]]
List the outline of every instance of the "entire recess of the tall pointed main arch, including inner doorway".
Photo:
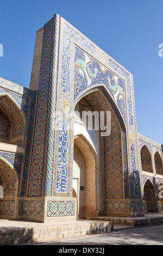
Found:
[[(104, 118), (100, 120), (101, 113)], [(102, 127), (106, 130), (106, 126), (109, 129), (107, 135), (102, 130)], [(125, 132), (122, 120), (118, 121), (99, 88), (84, 95), (76, 104), (73, 181), (77, 176), (81, 180), (78, 180), (77, 196), (79, 217), (129, 214), (129, 193), (125, 190), (129, 187)], [(85, 204), (87, 197), (88, 205)], [(81, 210), (84, 206), (85, 214)], [(87, 210), (89, 208), (91, 211)]]

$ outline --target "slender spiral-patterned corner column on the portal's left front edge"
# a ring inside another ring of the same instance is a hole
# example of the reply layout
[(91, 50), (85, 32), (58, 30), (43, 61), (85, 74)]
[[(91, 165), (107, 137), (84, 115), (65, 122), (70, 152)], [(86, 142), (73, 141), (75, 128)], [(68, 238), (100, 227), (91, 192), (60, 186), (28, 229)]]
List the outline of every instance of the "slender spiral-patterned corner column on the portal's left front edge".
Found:
[(59, 28), (60, 17), (54, 15), (53, 34), (52, 34), (52, 56), (51, 69), (49, 75), (48, 108), (47, 108), (47, 127), (45, 139), (45, 155), (43, 162), (41, 196), (51, 196), (53, 158), (54, 158), (54, 136), (55, 136), (55, 108), (57, 97), (57, 75), (58, 75), (58, 49), (59, 49)]

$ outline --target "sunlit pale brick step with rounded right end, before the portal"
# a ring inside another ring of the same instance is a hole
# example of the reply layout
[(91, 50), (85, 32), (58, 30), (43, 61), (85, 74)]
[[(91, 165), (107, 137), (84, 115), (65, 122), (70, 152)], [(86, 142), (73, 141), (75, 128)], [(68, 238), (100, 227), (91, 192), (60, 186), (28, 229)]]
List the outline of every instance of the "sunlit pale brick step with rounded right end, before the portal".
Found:
[[(0, 223), (0, 245), (49, 242), (90, 234), (102, 234), (114, 230), (108, 221), (70, 221), (68, 223), (32, 223), (16, 221)], [(5, 227), (6, 225), (6, 227)], [(9, 226), (10, 225), (10, 226)]]

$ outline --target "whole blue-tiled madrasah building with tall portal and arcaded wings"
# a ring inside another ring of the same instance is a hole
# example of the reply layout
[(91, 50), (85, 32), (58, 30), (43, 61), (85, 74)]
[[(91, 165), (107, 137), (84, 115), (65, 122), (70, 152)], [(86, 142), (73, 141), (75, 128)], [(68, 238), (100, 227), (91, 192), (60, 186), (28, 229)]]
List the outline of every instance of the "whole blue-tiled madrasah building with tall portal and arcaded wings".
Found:
[(36, 32), (29, 89), (0, 80), (1, 219), (163, 211), (162, 148), (137, 133), (133, 75), (70, 23)]

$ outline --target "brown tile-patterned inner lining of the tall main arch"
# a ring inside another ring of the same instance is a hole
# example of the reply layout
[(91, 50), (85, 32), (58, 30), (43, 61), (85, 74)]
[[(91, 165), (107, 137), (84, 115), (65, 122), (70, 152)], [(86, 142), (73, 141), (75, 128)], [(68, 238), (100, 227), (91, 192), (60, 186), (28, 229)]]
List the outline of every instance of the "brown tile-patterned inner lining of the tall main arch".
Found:
[[(126, 216), (129, 214), (129, 212), (127, 213), (128, 209), (124, 208), (123, 202), (123, 206), (120, 202), (129, 197), (128, 166), (127, 161), (124, 161), (125, 158), (127, 160), (126, 128), (122, 117), (103, 87), (97, 87), (85, 93), (76, 103), (74, 110), (79, 112), (79, 117), (82, 111), (104, 112), (105, 125), (106, 112), (111, 113), (109, 136), (101, 136), (102, 129), (99, 129), (98, 134), (92, 140), (99, 160), (98, 182), (96, 182), (99, 187), (99, 199), (96, 204), (99, 205), (97, 209), (101, 215), (120, 214)], [(77, 120), (81, 125), (82, 121)], [(95, 121), (92, 123), (92, 127), (95, 129)], [(89, 125), (87, 125), (87, 129), (89, 129)], [(125, 184), (123, 175), (126, 177)]]

